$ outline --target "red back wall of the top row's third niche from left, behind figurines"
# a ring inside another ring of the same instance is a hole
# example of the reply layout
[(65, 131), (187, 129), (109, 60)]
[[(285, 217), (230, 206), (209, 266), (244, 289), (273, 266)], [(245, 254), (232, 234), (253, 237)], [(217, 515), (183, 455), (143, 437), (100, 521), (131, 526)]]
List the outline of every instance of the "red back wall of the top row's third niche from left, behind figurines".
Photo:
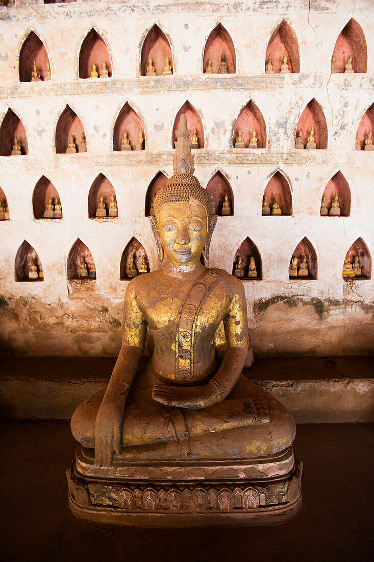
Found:
[(140, 57), (140, 74), (142, 76), (147, 75), (149, 57), (152, 58), (152, 65), (157, 76), (162, 75), (166, 57), (169, 58), (171, 69), (174, 72), (169, 40), (156, 24), (148, 31), (143, 42), (142, 56)]

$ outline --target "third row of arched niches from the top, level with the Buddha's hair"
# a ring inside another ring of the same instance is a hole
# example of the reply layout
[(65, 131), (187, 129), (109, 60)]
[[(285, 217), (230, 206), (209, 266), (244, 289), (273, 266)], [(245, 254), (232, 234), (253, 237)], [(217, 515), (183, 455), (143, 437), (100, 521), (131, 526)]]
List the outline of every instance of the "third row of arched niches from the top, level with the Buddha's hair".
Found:
[[(153, 215), (153, 202), (157, 192), (168, 181), (162, 172), (150, 181), (145, 194), (144, 215)], [(229, 179), (217, 170), (209, 179), (206, 189), (211, 196), (212, 214), (218, 216), (234, 215), (234, 193)], [(320, 203), (320, 215), (350, 215), (349, 184), (341, 171), (337, 171), (327, 182)], [(293, 215), (291, 187), (288, 178), (277, 170), (266, 184), (258, 211), (262, 216)], [(54, 184), (42, 176), (33, 191), (33, 213), (35, 219), (62, 219), (61, 197)], [(110, 180), (102, 173), (94, 179), (88, 193), (88, 216), (90, 219), (113, 219), (118, 217), (117, 196)], [(0, 187), (0, 220), (9, 220), (10, 210), (6, 194)]]

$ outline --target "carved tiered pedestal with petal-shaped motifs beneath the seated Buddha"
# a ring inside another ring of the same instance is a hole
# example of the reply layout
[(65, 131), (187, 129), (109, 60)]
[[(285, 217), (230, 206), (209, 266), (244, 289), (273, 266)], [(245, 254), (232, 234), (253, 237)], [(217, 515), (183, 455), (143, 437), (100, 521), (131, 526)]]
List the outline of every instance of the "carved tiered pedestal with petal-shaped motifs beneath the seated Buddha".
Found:
[(84, 447), (70, 470), (69, 505), (77, 517), (141, 527), (268, 525), (301, 506), (302, 466), (292, 447), (258, 459), (93, 464)]

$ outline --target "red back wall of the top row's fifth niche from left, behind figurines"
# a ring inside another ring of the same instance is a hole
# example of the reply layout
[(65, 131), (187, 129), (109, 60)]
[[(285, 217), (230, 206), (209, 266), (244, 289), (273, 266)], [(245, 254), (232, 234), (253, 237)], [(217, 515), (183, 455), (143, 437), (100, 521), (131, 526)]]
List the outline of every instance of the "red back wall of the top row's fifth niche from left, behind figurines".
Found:
[(273, 32), (266, 49), (266, 60), (271, 55), (274, 74), (280, 74), (283, 57), (287, 56), (290, 72), (300, 72), (300, 49), (295, 31), (282, 20)]

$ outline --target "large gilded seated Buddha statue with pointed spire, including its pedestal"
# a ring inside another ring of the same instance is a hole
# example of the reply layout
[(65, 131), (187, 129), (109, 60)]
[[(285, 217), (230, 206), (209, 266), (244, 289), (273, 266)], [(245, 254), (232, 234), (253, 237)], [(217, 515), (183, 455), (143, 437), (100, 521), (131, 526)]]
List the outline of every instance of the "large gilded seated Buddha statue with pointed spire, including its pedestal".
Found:
[(301, 500), (295, 423), (242, 374), (253, 361), (243, 285), (200, 262), (216, 219), (189, 135), (182, 115), (174, 175), (149, 219), (162, 266), (127, 285), (110, 382), (71, 419), (81, 446), (67, 470), (70, 508), (117, 524), (270, 522), (273, 513), (278, 523)]

